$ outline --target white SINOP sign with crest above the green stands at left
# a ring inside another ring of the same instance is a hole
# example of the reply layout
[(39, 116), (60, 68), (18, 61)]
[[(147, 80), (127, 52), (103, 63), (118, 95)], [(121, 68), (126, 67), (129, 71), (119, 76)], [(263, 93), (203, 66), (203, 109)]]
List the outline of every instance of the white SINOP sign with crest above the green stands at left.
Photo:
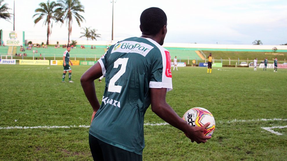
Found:
[(8, 46), (23, 45), (23, 31), (2, 31), (3, 42)]

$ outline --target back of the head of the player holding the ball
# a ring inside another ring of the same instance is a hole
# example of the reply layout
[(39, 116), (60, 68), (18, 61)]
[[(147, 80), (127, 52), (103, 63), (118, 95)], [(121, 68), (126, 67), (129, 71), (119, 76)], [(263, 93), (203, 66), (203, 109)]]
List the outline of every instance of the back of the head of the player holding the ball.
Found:
[(167, 25), (167, 17), (160, 8), (151, 7), (141, 13), (140, 22), (142, 34), (156, 35), (164, 25)]

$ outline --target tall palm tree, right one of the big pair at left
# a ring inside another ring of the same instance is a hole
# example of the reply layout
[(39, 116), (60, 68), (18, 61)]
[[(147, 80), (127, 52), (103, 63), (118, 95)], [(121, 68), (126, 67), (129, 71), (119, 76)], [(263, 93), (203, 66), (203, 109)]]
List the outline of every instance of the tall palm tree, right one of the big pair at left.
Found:
[(70, 35), (72, 33), (73, 17), (76, 19), (79, 27), (85, 18), (79, 12), (85, 12), (84, 6), (81, 5), (79, 0), (58, 0), (61, 6), (61, 14), (59, 14), (60, 21), (63, 23), (66, 20), (68, 24), (68, 44), (70, 43)]

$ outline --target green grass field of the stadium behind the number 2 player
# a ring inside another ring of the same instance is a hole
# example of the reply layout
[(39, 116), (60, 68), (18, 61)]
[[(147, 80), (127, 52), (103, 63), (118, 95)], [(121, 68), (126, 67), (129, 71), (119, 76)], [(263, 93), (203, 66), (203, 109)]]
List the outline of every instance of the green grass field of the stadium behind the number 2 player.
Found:
[[(0, 65), (0, 160), (92, 160), (89, 129), (79, 127), (88, 126), (92, 114), (80, 85), (89, 66), (72, 66), (75, 83), (61, 83), (62, 68)], [(287, 69), (206, 71), (201, 67), (172, 71), (173, 90), (167, 102), (179, 116), (191, 107), (208, 109), (216, 121), (212, 138), (196, 144), (170, 125), (145, 125), (143, 159), (286, 160)], [(105, 83), (95, 81), (95, 86), (101, 98)], [(147, 110), (146, 124), (163, 122)]]

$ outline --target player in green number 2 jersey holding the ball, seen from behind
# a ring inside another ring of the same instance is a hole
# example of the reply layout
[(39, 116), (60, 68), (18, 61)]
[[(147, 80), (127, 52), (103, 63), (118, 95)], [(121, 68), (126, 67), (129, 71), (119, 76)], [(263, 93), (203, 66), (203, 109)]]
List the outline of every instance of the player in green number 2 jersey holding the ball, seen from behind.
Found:
[[(141, 37), (131, 37), (112, 45), (104, 58), (81, 77), (81, 85), (94, 112), (89, 131), (94, 160), (142, 160), (144, 114), (152, 111), (183, 131), (192, 142), (204, 143), (204, 127), (188, 125), (166, 103), (172, 89), (170, 53), (161, 45), (167, 32), (166, 14), (148, 8), (140, 17)], [(101, 105), (94, 80), (106, 77)]]

